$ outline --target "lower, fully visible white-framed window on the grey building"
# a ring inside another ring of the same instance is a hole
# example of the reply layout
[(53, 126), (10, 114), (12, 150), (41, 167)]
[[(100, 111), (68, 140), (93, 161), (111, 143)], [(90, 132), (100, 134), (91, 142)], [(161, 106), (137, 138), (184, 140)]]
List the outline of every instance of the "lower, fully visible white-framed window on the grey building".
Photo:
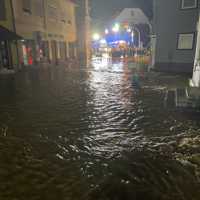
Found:
[(178, 49), (192, 50), (194, 44), (194, 33), (181, 33), (178, 35)]

